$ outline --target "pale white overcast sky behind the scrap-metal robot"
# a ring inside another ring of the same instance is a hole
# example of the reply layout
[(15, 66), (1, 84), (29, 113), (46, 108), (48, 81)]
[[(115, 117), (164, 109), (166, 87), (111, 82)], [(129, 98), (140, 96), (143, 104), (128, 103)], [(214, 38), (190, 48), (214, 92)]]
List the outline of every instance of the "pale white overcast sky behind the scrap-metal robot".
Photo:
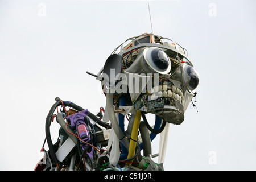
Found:
[[(155, 0), (150, 10), (154, 34), (186, 48), (200, 74), (199, 112), (170, 125), (166, 170), (255, 170), (256, 1)], [(105, 107), (86, 71), (144, 32), (147, 1), (0, 0), (0, 170), (34, 169), (55, 97)]]

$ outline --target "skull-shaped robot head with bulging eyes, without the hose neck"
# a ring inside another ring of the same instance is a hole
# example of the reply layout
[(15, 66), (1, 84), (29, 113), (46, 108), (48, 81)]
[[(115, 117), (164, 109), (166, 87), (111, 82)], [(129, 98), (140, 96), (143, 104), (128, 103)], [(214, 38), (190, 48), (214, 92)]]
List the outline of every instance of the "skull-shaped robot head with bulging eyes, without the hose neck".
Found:
[(126, 97), (126, 105), (133, 105), (135, 110), (180, 125), (199, 84), (199, 74), (187, 50), (153, 34), (126, 42), (118, 47), (118, 54), (115, 49), (98, 74), (105, 92), (115, 98)]

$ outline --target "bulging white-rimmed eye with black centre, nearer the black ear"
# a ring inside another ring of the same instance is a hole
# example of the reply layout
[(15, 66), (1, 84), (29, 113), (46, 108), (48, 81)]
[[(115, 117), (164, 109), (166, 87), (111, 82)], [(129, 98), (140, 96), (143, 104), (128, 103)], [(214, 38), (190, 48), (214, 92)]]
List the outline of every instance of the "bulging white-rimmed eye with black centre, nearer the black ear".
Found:
[(167, 71), (171, 64), (169, 57), (161, 49), (150, 49), (147, 52), (147, 59), (151, 66), (158, 71)]

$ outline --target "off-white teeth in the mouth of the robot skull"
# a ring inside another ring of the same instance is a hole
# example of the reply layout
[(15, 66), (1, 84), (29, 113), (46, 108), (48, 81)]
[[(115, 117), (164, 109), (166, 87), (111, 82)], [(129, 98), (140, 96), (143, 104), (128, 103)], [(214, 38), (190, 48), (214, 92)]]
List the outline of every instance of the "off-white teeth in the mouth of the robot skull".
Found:
[(181, 102), (184, 98), (182, 91), (174, 85), (159, 85), (157, 87), (155, 86), (154, 88), (152, 88), (151, 93), (152, 94), (150, 100), (155, 100), (158, 97), (170, 97)]

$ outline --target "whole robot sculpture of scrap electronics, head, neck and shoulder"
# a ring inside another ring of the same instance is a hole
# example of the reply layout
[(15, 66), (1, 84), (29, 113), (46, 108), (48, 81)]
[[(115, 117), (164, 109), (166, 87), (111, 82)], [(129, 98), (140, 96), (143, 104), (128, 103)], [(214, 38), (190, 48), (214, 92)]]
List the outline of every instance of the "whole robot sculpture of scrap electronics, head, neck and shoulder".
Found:
[[(126, 42), (112, 52), (97, 75), (87, 72), (101, 81), (106, 96), (106, 107), (101, 107), (100, 114), (55, 98), (46, 118), (44, 143), (47, 141), (49, 151), (42, 148), (44, 157), (35, 170), (164, 169), (166, 125), (184, 121), (199, 74), (187, 57), (187, 50), (170, 39), (143, 34)], [(118, 48), (119, 53), (115, 53)], [(155, 115), (154, 127), (147, 122), (148, 113)], [(125, 116), (129, 120), (127, 127)], [(55, 117), (60, 124), (60, 138), (53, 144), (50, 125)], [(159, 157), (155, 163), (151, 142), (159, 133)]]

